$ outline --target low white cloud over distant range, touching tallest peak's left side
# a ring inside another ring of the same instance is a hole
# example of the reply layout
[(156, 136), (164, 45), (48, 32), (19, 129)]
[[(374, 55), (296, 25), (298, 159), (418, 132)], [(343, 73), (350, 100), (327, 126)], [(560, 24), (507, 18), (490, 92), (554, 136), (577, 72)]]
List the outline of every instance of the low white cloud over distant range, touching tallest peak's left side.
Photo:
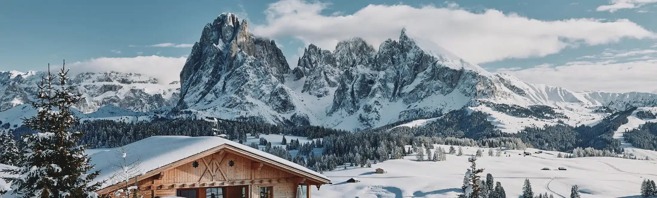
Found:
[(185, 65), (185, 57), (137, 56), (133, 58), (93, 58), (83, 62), (67, 64), (72, 74), (79, 72), (119, 71), (142, 73), (155, 77), (162, 84), (179, 80), (179, 71)]

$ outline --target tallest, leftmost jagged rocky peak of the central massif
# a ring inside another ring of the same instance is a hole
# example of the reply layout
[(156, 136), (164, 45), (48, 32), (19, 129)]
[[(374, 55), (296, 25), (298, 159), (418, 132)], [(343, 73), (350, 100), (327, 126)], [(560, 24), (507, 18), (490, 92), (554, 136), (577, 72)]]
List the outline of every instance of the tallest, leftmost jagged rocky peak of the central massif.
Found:
[(180, 73), (181, 100), (174, 110), (248, 110), (260, 100), (273, 111), (294, 109), (285, 89), (285, 56), (270, 39), (256, 37), (231, 13), (207, 24)]

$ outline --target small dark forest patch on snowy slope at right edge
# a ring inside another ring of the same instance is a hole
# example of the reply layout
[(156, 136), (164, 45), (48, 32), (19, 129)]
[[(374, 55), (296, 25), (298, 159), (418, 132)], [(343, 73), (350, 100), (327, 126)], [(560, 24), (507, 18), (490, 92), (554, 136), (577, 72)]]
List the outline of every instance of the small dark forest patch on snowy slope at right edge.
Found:
[(647, 122), (639, 129), (626, 131), (623, 136), (627, 142), (637, 148), (657, 149), (657, 123)]

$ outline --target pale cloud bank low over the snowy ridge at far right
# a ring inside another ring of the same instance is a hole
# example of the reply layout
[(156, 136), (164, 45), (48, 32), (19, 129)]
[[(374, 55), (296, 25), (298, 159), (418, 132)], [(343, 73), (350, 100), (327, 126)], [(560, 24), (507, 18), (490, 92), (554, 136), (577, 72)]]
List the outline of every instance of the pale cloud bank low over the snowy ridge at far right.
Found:
[(657, 60), (610, 63), (566, 64), (565, 66), (541, 65), (528, 69), (508, 71), (530, 83), (541, 83), (570, 90), (607, 90), (614, 92), (655, 92), (657, 84)]

